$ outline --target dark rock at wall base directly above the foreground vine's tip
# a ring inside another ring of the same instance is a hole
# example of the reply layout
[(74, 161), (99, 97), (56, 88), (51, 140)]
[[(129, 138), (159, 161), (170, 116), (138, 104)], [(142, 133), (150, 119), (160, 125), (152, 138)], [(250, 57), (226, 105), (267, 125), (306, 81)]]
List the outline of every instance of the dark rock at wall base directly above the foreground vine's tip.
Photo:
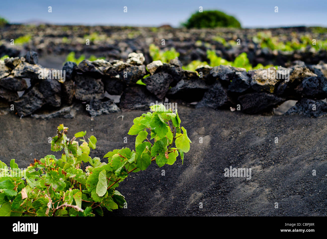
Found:
[(146, 90), (146, 86), (127, 87), (120, 97), (119, 107), (124, 110), (149, 110), (159, 99)]

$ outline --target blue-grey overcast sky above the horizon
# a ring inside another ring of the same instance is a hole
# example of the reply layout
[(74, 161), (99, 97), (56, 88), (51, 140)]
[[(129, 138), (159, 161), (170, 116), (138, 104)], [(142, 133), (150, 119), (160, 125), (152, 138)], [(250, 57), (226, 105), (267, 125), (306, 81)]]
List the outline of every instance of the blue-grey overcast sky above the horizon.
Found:
[(233, 15), (242, 27), (327, 26), (326, 0), (11, 0), (1, 2), (0, 16), (11, 23), (177, 27), (200, 6)]

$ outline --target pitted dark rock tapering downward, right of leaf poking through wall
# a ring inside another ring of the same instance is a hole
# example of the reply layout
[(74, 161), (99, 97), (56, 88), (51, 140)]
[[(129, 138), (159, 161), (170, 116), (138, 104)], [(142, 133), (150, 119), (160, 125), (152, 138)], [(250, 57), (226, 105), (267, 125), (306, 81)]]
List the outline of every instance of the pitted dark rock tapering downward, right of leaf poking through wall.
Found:
[(159, 72), (143, 79), (146, 89), (159, 99), (163, 99), (166, 95), (173, 77), (167, 73)]

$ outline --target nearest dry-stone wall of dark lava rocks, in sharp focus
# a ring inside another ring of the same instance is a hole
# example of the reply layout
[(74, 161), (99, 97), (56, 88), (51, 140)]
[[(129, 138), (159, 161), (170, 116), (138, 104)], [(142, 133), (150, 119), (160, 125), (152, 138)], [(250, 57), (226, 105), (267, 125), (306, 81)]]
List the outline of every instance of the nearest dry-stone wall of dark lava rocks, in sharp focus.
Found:
[[(62, 71), (45, 69), (37, 62), (33, 51), (0, 61), (0, 106), (5, 111), (20, 117), (73, 118), (78, 105), (84, 104), (83, 109), (94, 117), (120, 110), (148, 110), (151, 103), (168, 100), (258, 114), (292, 99), (298, 103), (286, 114), (327, 114), (327, 104), (321, 101), (327, 96), (324, 63), (296, 61), (289, 68), (248, 72), (205, 65), (193, 72), (183, 70), (178, 58), (169, 64), (153, 61), (144, 65), (141, 53), (129, 54), (126, 62), (66, 62)], [(145, 85), (137, 84), (140, 79)], [(119, 103), (108, 96), (120, 96)]]

